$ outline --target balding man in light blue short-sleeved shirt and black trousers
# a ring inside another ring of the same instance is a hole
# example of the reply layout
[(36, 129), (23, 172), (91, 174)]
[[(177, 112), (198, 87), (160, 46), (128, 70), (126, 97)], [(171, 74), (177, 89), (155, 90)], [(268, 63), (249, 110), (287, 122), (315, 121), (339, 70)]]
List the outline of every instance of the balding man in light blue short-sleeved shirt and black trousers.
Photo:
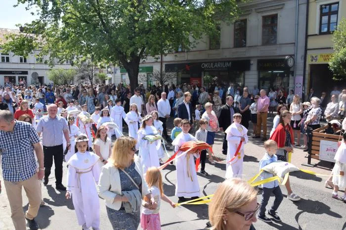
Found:
[(37, 133), (42, 133), (42, 144), (44, 154), (44, 185), (48, 184), (50, 168), (55, 164), (55, 188), (65, 191), (66, 187), (62, 185), (62, 162), (64, 159), (62, 136), (64, 134), (67, 140), (67, 146), (70, 145), (69, 128), (61, 116), (56, 116), (58, 107), (56, 104), (48, 105), (48, 116), (40, 119), (37, 125)]

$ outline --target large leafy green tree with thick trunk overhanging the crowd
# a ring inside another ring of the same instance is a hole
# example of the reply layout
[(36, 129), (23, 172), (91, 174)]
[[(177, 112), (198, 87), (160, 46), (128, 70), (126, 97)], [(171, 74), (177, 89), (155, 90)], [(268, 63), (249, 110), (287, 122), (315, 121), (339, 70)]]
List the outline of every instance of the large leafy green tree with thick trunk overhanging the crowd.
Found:
[[(139, 63), (146, 56), (194, 47), (204, 34), (231, 22), (240, 0), (18, 0), (39, 19), (10, 34), (3, 48), (24, 55), (41, 47), (55, 60), (92, 55), (95, 61), (126, 68), (138, 84)], [(133, 90), (134, 87), (132, 87)]]

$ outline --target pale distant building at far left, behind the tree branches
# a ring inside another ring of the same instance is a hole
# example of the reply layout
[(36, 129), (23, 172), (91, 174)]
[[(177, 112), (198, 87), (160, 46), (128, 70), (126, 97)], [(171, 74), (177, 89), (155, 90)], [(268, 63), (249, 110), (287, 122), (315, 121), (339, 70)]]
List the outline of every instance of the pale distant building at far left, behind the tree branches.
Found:
[[(0, 29), (0, 40), (4, 40), (5, 34), (20, 33), (19, 30)], [(3, 53), (0, 48), (0, 86), (8, 83), (25, 85), (52, 83), (47, 77), (47, 71), (51, 69), (44, 64), (46, 57), (38, 57), (39, 50), (35, 50), (28, 57), (17, 56), (13, 53)], [(54, 68), (71, 68), (69, 61), (64, 64), (56, 63)]]

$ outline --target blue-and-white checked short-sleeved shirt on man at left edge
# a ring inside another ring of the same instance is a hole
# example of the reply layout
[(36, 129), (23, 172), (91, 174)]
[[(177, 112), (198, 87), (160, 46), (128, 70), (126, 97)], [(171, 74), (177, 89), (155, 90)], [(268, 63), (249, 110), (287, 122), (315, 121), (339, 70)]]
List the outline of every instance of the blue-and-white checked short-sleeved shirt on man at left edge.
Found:
[(13, 132), (0, 131), (0, 154), (3, 179), (24, 181), (37, 170), (33, 144), (40, 142), (31, 124), (16, 121)]

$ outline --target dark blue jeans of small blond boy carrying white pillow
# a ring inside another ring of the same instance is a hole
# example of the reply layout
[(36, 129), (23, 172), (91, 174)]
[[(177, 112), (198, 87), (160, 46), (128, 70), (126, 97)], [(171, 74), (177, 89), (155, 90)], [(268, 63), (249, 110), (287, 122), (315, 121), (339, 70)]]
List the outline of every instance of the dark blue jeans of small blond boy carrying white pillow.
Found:
[(270, 195), (274, 194), (275, 200), (273, 203), (273, 206), (271, 206), (269, 212), (276, 212), (276, 210), (279, 208), (279, 205), (284, 198), (281, 193), (280, 186), (277, 186), (275, 188), (264, 188), (263, 187), (263, 193), (262, 193), (262, 201), (260, 203), (260, 209), (259, 209), (259, 216), (263, 217), (265, 216), (265, 206), (268, 204), (268, 200), (270, 198)]

